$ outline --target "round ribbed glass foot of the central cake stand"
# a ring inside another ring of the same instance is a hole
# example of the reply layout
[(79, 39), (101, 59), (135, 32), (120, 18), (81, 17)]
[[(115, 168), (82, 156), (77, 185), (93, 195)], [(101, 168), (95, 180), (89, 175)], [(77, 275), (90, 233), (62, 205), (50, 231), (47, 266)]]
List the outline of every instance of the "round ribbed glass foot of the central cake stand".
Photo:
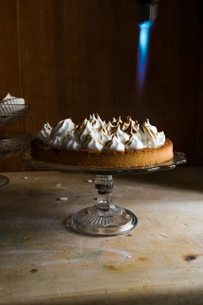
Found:
[(111, 236), (127, 233), (137, 223), (137, 217), (128, 209), (114, 205), (104, 210), (94, 205), (74, 214), (70, 228), (87, 235)]

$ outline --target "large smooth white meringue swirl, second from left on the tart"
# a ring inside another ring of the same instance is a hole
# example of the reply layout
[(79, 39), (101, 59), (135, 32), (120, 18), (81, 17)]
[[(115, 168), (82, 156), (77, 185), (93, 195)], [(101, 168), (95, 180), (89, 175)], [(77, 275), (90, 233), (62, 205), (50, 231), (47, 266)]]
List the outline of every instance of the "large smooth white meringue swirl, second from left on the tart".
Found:
[(52, 129), (50, 134), (50, 139), (53, 140), (56, 136), (60, 138), (64, 138), (66, 135), (70, 135), (74, 129), (75, 124), (73, 123), (71, 118), (66, 118)]

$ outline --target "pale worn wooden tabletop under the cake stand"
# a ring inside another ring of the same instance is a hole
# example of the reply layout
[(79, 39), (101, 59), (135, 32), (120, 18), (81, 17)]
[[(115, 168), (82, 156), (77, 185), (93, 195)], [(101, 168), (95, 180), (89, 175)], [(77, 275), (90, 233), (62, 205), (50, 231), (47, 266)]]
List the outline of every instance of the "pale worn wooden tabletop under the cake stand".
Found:
[(139, 223), (108, 238), (63, 224), (95, 204), (86, 182), (94, 176), (7, 176), (10, 184), (0, 189), (1, 304), (202, 304), (203, 168), (114, 176), (114, 203)]

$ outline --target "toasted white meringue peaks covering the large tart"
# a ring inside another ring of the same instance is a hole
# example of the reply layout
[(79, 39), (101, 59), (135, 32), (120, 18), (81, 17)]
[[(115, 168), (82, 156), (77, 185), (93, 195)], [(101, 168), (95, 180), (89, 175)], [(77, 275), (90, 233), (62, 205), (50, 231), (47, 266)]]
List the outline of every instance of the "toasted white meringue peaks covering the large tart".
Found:
[(158, 132), (147, 119), (142, 125), (128, 115), (126, 121), (120, 116), (106, 124), (99, 115), (92, 114), (75, 125), (71, 118), (66, 118), (52, 129), (45, 124), (38, 133), (40, 143), (58, 149), (120, 150), (156, 148), (163, 145), (165, 135)]

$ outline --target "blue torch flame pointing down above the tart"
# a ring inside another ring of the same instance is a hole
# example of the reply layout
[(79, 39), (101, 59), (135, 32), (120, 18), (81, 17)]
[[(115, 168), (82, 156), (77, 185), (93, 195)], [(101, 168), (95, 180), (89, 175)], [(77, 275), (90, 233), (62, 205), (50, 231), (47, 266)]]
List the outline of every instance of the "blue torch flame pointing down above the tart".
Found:
[(151, 21), (144, 21), (140, 23), (140, 37), (139, 37), (139, 49), (138, 49), (138, 88), (142, 90), (145, 75), (146, 75), (146, 68), (147, 68), (147, 51), (149, 45), (149, 32), (150, 26), (152, 25)]

